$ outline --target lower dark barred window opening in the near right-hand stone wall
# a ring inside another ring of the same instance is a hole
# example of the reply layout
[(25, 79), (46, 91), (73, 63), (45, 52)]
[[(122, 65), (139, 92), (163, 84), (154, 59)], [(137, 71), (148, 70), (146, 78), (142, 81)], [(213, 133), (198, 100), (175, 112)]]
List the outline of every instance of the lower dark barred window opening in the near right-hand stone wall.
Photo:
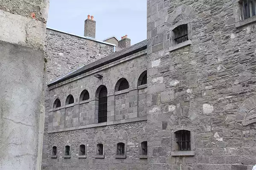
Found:
[(176, 142), (178, 144), (178, 150), (191, 150), (190, 131), (179, 130), (175, 132)]

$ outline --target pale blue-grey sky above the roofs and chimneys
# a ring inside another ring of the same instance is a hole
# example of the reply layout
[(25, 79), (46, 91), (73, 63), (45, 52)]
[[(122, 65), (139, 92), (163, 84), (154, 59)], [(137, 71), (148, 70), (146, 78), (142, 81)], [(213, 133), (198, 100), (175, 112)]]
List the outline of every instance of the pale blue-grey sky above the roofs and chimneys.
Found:
[(96, 39), (125, 34), (131, 44), (147, 37), (146, 0), (50, 0), (47, 27), (84, 36), (87, 14), (96, 21)]

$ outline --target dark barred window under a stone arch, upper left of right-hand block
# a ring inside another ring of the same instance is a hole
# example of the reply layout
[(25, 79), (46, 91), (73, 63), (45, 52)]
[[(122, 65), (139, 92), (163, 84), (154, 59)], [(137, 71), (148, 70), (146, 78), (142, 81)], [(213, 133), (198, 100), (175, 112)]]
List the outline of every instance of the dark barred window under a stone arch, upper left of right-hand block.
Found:
[(189, 38), (188, 38), (188, 25), (187, 24), (177, 26), (173, 30), (173, 32), (175, 34), (175, 39), (174, 40), (177, 44), (189, 40)]

